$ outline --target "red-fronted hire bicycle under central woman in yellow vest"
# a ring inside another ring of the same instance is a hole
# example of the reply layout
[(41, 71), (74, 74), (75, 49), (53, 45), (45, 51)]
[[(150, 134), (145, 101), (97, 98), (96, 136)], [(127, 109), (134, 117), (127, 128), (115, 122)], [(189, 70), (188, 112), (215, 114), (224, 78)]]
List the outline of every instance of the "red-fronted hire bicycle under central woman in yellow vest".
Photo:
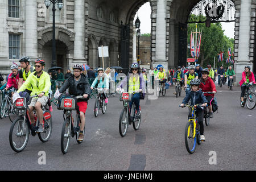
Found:
[[(131, 125), (131, 123), (133, 123), (134, 130), (138, 130), (139, 126), (141, 125), (141, 115), (139, 115), (139, 117), (136, 117), (137, 110), (135, 104), (133, 103), (133, 106), (131, 106), (131, 108), (129, 106), (129, 102), (131, 102), (131, 97), (131, 93), (123, 92), (123, 90), (121, 90), (119, 101), (123, 102), (123, 109), (119, 117), (119, 134), (122, 137), (125, 137), (127, 129), (129, 125)], [(141, 106), (139, 106), (139, 110), (141, 111)]]

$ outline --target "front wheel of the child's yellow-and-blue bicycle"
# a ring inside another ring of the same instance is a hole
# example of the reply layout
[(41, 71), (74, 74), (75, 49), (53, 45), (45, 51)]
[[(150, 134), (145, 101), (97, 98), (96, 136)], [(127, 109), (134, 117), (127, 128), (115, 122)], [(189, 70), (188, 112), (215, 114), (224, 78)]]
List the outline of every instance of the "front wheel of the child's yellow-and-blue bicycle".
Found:
[[(185, 127), (185, 146), (189, 154), (193, 154), (196, 150), (196, 137), (193, 138), (193, 126), (193, 121), (189, 121)], [(190, 143), (192, 143), (192, 145), (190, 145)]]

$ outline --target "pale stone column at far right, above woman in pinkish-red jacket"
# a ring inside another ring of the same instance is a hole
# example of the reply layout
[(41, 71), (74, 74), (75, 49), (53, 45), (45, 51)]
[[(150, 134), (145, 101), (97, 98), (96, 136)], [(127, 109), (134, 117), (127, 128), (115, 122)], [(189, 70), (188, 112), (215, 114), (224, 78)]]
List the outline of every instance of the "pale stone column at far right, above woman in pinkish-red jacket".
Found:
[[(251, 19), (251, 0), (241, 0), (238, 58), (235, 64), (236, 82), (242, 79), (242, 72), (245, 65), (250, 65), (251, 71), (253, 63), (250, 62), (250, 19)], [(235, 55), (236, 56), (236, 55)]]

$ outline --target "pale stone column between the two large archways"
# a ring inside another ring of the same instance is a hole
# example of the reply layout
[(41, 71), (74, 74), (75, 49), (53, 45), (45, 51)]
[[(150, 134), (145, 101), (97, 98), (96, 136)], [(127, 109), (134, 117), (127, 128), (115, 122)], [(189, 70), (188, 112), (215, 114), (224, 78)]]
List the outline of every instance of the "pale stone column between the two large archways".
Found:
[(168, 62), (166, 59), (166, 0), (158, 0), (156, 11), (156, 44), (154, 67), (162, 64), (167, 71)]

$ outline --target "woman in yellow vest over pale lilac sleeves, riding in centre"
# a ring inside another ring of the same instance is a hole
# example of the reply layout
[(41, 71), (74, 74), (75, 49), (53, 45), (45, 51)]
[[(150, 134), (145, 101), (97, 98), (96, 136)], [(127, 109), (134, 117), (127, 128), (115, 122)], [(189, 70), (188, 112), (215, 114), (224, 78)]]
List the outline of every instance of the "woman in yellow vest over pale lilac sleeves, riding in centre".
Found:
[(127, 86), (127, 90), (130, 94), (133, 96), (131, 97), (131, 102), (129, 103), (129, 107), (131, 108), (133, 106), (133, 103), (135, 104), (137, 113), (136, 116), (140, 117), (141, 111), (139, 110), (139, 98), (140, 94), (137, 93), (142, 92), (145, 93), (144, 89), (144, 78), (141, 73), (141, 68), (139, 67), (138, 63), (131, 64), (129, 74), (123, 79), (121, 82), (121, 85), (119, 88), (117, 88), (117, 91), (121, 88), (124, 88), (124, 86)]

